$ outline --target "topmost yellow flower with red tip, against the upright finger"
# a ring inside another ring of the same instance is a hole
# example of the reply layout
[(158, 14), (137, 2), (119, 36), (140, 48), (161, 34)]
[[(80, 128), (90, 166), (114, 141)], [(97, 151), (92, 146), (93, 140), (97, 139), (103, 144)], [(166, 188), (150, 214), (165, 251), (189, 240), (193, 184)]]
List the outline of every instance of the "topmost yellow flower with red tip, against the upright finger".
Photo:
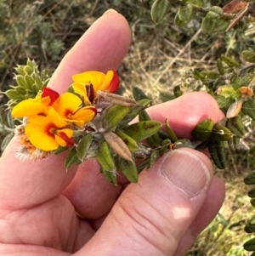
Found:
[(106, 74), (99, 71), (86, 71), (72, 77), (72, 88), (80, 94), (85, 105), (92, 105), (98, 91), (114, 93), (119, 88), (119, 77), (116, 71)]

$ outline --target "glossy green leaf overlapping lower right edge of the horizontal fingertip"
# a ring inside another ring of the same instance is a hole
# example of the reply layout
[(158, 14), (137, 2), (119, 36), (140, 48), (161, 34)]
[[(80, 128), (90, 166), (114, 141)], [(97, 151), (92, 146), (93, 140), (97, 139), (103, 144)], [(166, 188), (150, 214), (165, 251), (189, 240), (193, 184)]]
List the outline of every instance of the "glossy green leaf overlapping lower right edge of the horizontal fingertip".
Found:
[(213, 122), (212, 119), (207, 118), (201, 121), (192, 131), (192, 135), (199, 141), (206, 141), (212, 134)]

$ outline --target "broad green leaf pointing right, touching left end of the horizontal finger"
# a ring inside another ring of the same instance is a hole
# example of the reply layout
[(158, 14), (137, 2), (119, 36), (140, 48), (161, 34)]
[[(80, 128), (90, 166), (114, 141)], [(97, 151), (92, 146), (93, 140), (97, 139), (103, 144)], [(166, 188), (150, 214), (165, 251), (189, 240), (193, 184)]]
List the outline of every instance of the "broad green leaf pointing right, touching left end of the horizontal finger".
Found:
[(161, 128), (161, 122), (157, 121), (143, 121), (131, 124), (124, 129), (124, 133), (136, 141), (147, 139), (153, 134), (156, 134)]

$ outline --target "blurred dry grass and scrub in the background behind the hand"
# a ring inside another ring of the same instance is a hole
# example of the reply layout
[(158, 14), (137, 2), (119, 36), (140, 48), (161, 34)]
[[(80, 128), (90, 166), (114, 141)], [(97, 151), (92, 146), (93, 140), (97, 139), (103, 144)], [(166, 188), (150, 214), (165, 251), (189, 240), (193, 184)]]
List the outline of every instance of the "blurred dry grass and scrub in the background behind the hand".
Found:
[[(164, 20), (155, 25), (150, 18), (154, 1), (143, 0), (0, 0), (0, 91), (14, 85), (14, 67), (35, 60), (40, 70), (52, 74), (65, 53), (105, 10), (113, 8), (123, 14), (133, 34), (133, 43), (119, 68), (122, 93), (130, 94), (134, 86), (143, 88), (156, 102), (159, 90), (182, 85), (192, 91), (190, 73), (194, 68), (216, 69), (221, 54), (238, 56), (243, 48), (254, 48), (254, 31), (249, 34), (232, 30), (213, 35), (201, 32), (197, 15), (187, 26), (174, 26), (177, 9), (170, 9)], [(229, 1), (205, 0), (204, 6), (223, 7)], [(192, 80), (192, 79), (191, 79)], [(12, 137), (14, 123), (8, 117), (7, 98), (0, 94), (1, 149)], [(248, 139), (252, 138), (252, 130)], [(207, 227), (187, 255), (248, 255), (244, 241), (251, 238), (244, 231), (252, 207), (242, 179), (252, 168), (241, 142), (237, 153), (229, 151), (226, 170), (217, 170), (227, 187), (226, 201), (218, 216)], [(245, 213), (245, 214), (244, 214)]]

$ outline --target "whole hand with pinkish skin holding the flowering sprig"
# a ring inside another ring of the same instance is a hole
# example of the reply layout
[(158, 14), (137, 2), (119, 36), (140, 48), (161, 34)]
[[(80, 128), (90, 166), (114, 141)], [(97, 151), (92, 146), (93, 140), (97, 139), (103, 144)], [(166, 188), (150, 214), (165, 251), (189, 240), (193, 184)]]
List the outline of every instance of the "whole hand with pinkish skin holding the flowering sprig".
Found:
[[(65, 55), (48, 86), (63, 93), (76, 73), (117, 69), (129, 44), (127, 21), (106, 12)], [(206, 93), (184, 94), (149, 113), (160, 122), (168, 118), (184, 138), (201, 120), (223, 118)], [(122, 187), (108, 184), (95, 161), (66, 173), (65, 153), (21, 162), (17, 148), (14, 138), (0, 158), (0, 255), (179, 256), (224, 201), (224, 184), (199, 151), (167, 153), (139, 174), (139, 184)]]

